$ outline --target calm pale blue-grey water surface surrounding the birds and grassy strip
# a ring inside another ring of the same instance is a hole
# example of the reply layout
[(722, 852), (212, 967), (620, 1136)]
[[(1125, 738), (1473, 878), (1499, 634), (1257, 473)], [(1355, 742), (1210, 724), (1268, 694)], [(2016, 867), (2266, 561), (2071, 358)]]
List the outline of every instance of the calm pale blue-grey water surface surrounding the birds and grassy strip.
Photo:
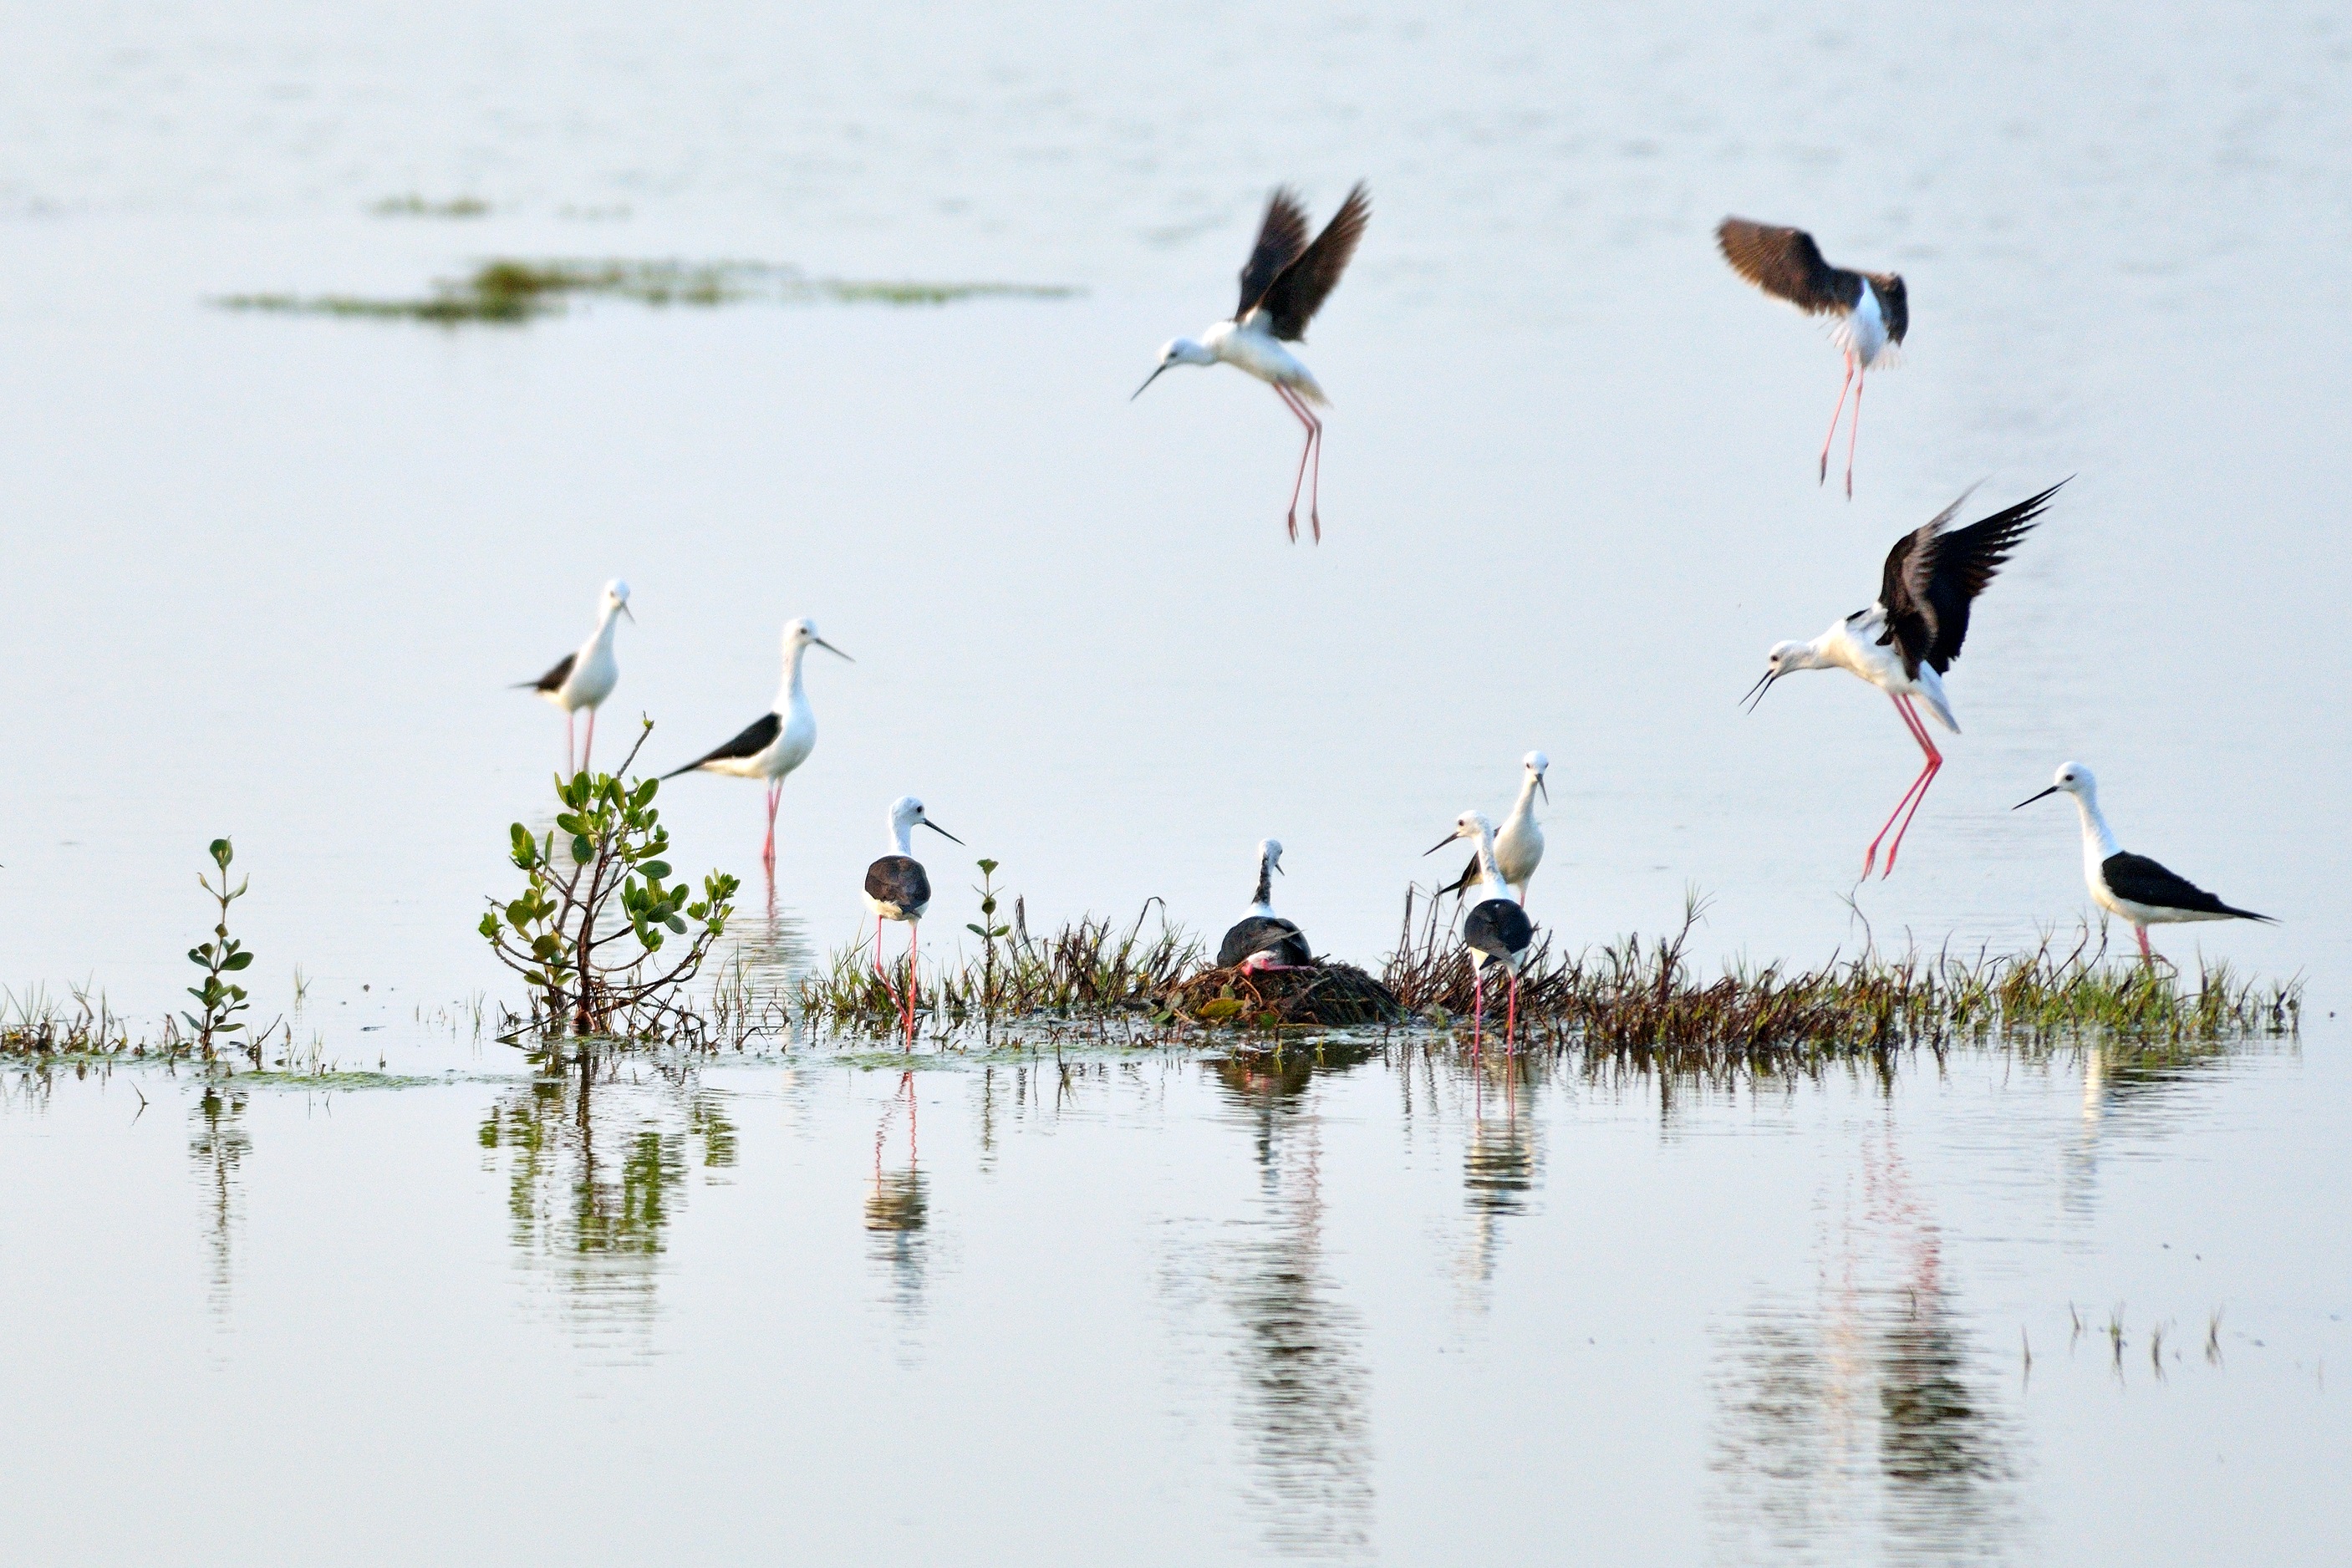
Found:
[[(12, 1561), (2340, 1559), (2340, 9), (0, 16), (0, 983), (158, 1018), (233, 832), (263, 1018), (428, 1079), (7, 1079)], [(1291, 548), (1263, 390), (1127, 393), (1230, 308), (1265, 186), (1357, 176)], [(494, 212), (369, 214), (405, 193)], [(1724, 212), (1910, 280), (1853, 503), (1835, 355)], [(1087, 294), (202, 303), (496, 254)], [(1962, 487), (2070, 473), (1851, 889), (1910, 743), (1830, 675), (1736, 696)], [(541, 1081), (473, 1030), (560, 759), (503, 686), (616, 574), (607, 743), (642, 710), (654, 764), (760, 712), (786, 618), (858, 658), (811, 665), (774, 889), (755, 788), (663, 795), (769, 980), (854, 940), (908, 790), (1037, 926), (1221, 926), (1272, 832), (1287, 912), (1374, 959), (1526, 748), (1569, 945), (1696, 886), (1710, 964), (2011, 947), (2084, 910), (2063, 806), (2006, 811), (2082, 757), (2131, 846), (2281, 917), (2164, 950), (2305, 973), (2307, 1027), (1769, 1088), (1404, 1046)]]

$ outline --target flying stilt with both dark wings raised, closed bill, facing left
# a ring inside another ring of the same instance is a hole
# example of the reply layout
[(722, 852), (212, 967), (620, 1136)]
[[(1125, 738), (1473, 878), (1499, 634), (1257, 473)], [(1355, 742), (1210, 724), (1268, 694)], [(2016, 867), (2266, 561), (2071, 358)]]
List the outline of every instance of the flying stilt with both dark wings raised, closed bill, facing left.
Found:
[[(1244, 369), (1275, 388), (1298, 423), (1308, 428), (1308, 444), (1298, 451), (1298, 477), (1291, 480), (1289, 529), (1298, 543), (1298, 487), (1308, 480), (1308, 458), (1315, 461), (1315, 487), (1308, 491), (1308, 524), (1315, 543), (1322, 543), (1322, 421), (1308, 404), (1329, 404), (1315, 374), (1298, 362), (1284, 343), (1303, 343), (1308, 322), (1338, 287), (1338, 275), (1348, 270), (1364, 223), (1371, 219), (1371, 197), (1357, 181), (1348, 200), (1341, 202), (1331, 223), (1308, 244), (1308, 209), (1287, 186), (1265, 202), (1265, 221), (1258, 226), (1258, 244), (1242, 268), (1242, 303), (1230, 322), (1218, 322), (1200, 334), (1202, 341), (1169, 339), (1160, 350), (1160, 367), (1143, 378), (1150, 386), (1169, 364), (1230, 364)], [(1143, 397), (1143, 386), (1127, 402)]]

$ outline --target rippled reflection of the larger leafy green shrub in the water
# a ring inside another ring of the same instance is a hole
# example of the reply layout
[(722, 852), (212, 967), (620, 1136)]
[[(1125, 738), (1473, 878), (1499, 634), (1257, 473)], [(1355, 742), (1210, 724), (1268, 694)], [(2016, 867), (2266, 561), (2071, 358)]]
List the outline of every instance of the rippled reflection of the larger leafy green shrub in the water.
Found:
[(623, 1079), (628, 1058), (616, 1051), (539, 1065), (492, 1103), (477, 1133), (506, 1161), (515, 1251), (583, 1300), (649, 1312), (652, 1260), (668, 1246), (689, 1173), (736, 1161), (727, 1103), (684, 1070)]

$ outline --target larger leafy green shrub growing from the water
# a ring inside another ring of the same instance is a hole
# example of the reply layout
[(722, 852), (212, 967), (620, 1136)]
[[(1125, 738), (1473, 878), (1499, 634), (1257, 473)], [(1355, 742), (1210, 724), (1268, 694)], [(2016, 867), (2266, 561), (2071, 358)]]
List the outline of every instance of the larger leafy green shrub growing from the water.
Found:
[[(477, 929), (536, 992), (534, 1011), (550, 1027), (659, 1034), (734, 912), (739, 884), (727, 872), (706, 875), (701, 898), (670, 882), (670, 830), (654, 809), (661, 780), (623, 778), (649, 733), (652, 719), (614, 773), (557, 778), (562, 809), (548, 832), (508, 830), (527, 886), (520, 898), (492, 898)], [(666, 959), (673, 936), (687, 938), (687, 950)]]

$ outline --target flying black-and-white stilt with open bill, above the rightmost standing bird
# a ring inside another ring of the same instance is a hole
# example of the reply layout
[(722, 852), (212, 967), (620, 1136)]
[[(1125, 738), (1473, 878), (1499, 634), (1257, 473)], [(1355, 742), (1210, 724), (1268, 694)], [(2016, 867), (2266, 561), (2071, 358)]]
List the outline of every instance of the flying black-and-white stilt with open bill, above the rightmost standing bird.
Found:
[[(2065, 484), (2065, 480), (2058, 480), (2058, 484)], [(2051, 484), (2039, 496), (2018, 501), (2006, 512), (1994, 512), (1983, 522), (1971, 522), (1964, 529), (1945, 534), (1943, 524), (1952, 520), (1962, 501), (1976, 489), (1971, 484), (1962, 491), (1959, 501), (1929, 517), (1924, 527), (1898, 538), (1896, 548), (1886, 552), (1877, 604), (1837, 621), (1820, 637), (1813, 637), (1813, 642), (1773, 644), (1764, 658), (1764, 679), (1750, 686), (1743, 698), (1752, 710), (1771, 691), (1771, 684), (1790, 670), (1828, 670), (1835, 665), (1860, 675), (1893, 701), (1896, 712), (1903, 717), (1903, 729), (1926, 752), (1926, 766), (1919, 769), (1919, 778), (1912, 780), (1912, 788), (1903, 792), (1903, 799), (1896, 802), (1893, 813), (1886, 818), (1886, 827), (1896, 830), (1896, 842), (1886, 846), (1886, 877), (1896, 872), (1896, 851), (1903, 849), (1910, 818), (1919, 816), (1919, 802), (1926, 799), (1929, 783), (1943, 769), (1943, 752), (1929, 741), (1926, 724), (1919, 719), (1912, 698), (1924, 701), (1938, 724), (1955, 736), (1959, 733), (1959, 719), (1952, 717), (1952, 705), (1943, 698), (1940, 677), (1959, 658), (1959, 644), (1969, 635), (1969, 602), (1985, 592), (1985, 583), (2009, 559), (2009, 550), (2016, 548), (2018, 538), (2034, 527), (2034, 517), (2058, 494), (2058, 484)], [(1905, 806), (1910, 806), (1910, 816), (1903, 813)], [(1900, 827), (1896, 827), (1898, 816), (1903, 818)], [(1879, 827), (1879, 837), (1870, 839), (1870, 849), (1863, 853), (1863, 877), (1877, 863), (1879, 839), (1886, 837), (1886, 827)]]

